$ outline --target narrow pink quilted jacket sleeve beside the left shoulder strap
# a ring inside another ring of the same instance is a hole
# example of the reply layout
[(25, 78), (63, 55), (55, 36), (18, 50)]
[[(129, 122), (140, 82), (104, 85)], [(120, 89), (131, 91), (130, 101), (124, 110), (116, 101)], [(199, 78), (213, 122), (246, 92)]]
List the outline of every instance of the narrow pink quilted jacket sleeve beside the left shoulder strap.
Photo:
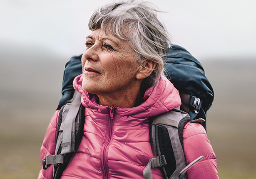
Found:
[[(40, 159), (42, 165), (42, 159), (45, 158), (47, 155), (54, 155), (55, 154), (55, 141), (56, 141), (56, 132), (58, 126), (58, 116), (59, 110), (55, 112), (52, 116), (50, 124), (48, 125), (45, 137), (42, 142), (42, 147), (40, 150)], [(48, 167), (46, 170), (41, 169), (38, 179), (52, 179), (53, 177), (53, 165)]]

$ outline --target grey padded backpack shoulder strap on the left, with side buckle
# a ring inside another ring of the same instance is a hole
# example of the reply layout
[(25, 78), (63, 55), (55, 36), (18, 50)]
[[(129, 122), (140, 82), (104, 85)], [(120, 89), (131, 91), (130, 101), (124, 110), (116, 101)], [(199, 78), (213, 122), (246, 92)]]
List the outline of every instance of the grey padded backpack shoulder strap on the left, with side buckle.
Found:
[(72, 153), (80, 145), (85, 123), (85, 107), (81, 104), (81, 94), (75, 91), (73, 98), (62, 106), (56, 135), (55, 155), (46, 156), (44, 169), (55, 164), (54, 179), (60, 179)]

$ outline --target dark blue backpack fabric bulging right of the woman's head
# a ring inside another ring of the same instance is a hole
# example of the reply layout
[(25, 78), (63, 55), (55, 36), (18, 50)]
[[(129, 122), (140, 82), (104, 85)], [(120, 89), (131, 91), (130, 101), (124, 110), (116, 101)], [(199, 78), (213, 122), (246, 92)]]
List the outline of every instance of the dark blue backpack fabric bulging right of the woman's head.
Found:
[[(214, 100), (214, 90), (205, 76), (204, 68), (186, 49), (171, 45), (165, 59), (166, 76), (180, 92), (196, 96), (202, 101), (199, 113), (190, 111), (191, 120), (203, 118)], [(203, 123), (204, 128), (206, 124)]]

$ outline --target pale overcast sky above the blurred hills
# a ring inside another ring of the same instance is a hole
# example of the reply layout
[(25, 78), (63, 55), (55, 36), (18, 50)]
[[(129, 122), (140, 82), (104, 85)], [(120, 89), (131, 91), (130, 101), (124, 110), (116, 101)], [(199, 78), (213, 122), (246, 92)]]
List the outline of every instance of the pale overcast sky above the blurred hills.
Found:
[[(173, 44), (199, 60), (256, 57), (256, 0), (149, 0)], [(81, 54), (90, 15), (106, 0), (0, 0), (0, 44)], [(13, 48), (13, 50), (15, 50)], [(255, 58), (256, 59), (256, 58)]]

